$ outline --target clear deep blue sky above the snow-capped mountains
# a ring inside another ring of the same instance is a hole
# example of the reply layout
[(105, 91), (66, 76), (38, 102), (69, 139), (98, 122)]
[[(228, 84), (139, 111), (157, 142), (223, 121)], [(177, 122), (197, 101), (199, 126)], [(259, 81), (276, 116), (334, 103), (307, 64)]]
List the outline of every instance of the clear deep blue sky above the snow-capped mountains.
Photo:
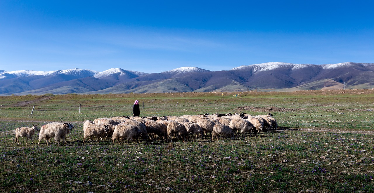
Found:
[(0, 70), (374, 63), (374, 1), (0, 1)]

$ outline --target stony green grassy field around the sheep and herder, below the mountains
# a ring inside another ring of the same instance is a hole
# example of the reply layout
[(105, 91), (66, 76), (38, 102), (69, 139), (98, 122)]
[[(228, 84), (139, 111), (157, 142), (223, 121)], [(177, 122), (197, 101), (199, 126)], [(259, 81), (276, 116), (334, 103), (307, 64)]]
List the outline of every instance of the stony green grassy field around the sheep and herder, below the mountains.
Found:
[[(374, 192), (374, 91), (223, 94), (0, 97), (0, 191)], [(85, 120), (131, 116), (135, 99), (142, 116), (272, 113), (280, 128), (234, 140), (83, 145)], [(74, 124), (68, 144), (14, 143), (16, 127), (50, 121)]]

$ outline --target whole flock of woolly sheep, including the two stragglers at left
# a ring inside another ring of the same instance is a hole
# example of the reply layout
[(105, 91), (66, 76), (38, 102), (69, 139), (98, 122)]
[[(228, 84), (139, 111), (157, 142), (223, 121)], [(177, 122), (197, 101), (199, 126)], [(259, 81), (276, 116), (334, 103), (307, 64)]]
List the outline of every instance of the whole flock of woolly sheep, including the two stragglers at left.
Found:
[[(205, 115), (183, 115), (177, 116), (163, 116), (163, 117), (112, 117), (99, 118), (93, 121), (87, 120), (83, 125), (83, 144), (86, 139), (93, 141), (92, 137), (96, 137), (96, 141), (111, 138), (112, 143), (115, 141), (121, 144), (122, 140), (136, 140), (138, 143), (140, 139), (171, 141), (176, 140), (188, 141), (191, 136), (217, 138), (222, 135), (225, 138), (234, 138), (234, 133), (242, 134), (248, 133), (250, 135), (258, 132), (271, 131), (277, 129), (278, 123), (273, 118), (272, 114), (251, 116), (248, 114), (205, 114)], [(46, 140), (47, 145), (50, 144), (50, 138), (54, 137), (59, 145), (60, 140), (66, 143), (65, 137), (74, 128), (71, 123), (51, 122), (43, 125), (40, 128), (39, 142)], [(19, 137), (26, 137), (32, 139), (35, 131), (38, 131), (37, 126), (31, 128), (21, 127), (15, 129), (15, 143), (19, 144)]]

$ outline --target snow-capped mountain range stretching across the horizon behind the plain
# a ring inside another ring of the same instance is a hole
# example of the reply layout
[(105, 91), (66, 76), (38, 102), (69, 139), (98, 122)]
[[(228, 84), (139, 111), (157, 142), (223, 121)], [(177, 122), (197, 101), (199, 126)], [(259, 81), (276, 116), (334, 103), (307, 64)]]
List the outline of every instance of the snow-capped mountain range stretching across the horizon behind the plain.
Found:
[(374, 64), (289, 64), (268, 62), (231, 70), (181, 67), (162, 73), (111, 68), (57, 71), (0, 70), (0, 95), (120, 94), (163, 92), (294, 91), (371, 89)]

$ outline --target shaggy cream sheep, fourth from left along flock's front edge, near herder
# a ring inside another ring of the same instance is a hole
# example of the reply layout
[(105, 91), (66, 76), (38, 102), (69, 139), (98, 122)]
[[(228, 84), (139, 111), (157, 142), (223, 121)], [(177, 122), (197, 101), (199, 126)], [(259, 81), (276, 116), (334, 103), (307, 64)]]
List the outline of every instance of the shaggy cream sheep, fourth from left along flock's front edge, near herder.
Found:
[(147, 140), (147, 136), (145, 136), (145, 134), (141, 132), (140, 129), (138, 129), (136, 126), (119, 124), (114, 128), (114, 132), (112, 135), (112, 144), (114, 145), (114, 141), (117, 140), (121, 145), (120, 139), (122, 138), (126, 138), (127, 144), (130, 144), (130, 140), (132, 138), (135, 138), (137, 140), (137, 143), (139, 143), (139, 137), (143, 140)]

